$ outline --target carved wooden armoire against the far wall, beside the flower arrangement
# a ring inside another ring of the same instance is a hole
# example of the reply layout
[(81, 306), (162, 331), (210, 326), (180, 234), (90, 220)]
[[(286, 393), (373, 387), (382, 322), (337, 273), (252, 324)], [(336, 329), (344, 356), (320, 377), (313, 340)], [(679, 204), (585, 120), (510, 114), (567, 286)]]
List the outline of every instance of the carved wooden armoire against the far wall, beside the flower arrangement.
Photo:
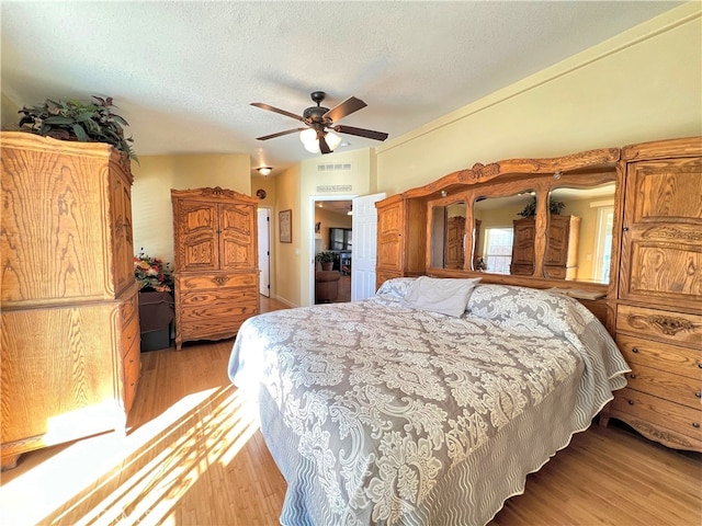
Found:
[(176, 347), (234, 336), (259, 313), (257, 199), (231, 190), (171, 190)]

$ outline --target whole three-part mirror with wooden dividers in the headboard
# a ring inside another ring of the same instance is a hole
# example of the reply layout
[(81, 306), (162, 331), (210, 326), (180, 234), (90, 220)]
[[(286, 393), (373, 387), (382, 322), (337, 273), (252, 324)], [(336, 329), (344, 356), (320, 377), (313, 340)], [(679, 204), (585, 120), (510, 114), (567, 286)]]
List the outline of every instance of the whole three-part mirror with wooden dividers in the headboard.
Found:
[(555, 173), (430, 201), (429, 267), (608, 284), (615, 179)]

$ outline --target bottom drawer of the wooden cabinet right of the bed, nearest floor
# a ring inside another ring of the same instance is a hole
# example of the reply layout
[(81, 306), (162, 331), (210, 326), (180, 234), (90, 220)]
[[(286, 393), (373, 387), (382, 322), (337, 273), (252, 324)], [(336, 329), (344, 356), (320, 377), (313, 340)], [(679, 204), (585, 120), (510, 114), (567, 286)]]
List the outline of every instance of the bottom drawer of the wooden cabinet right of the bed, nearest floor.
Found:
[[(618, 413), (634, 419), (622, 419), (632, 425), (670, 430), (689, 437), (698, 448), (702, 445), (702, 411), (700, 409), (688, 408), (626, 387), (614, 392), (612, 416), (618, 418)], [(636, 428), (639, 427), (636, 426)]]

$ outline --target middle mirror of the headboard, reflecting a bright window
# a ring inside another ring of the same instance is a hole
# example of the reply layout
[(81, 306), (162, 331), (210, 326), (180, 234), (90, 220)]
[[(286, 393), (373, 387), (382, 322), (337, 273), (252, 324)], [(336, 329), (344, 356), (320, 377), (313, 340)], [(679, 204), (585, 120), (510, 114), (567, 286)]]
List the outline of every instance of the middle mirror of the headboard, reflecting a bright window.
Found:
[[(473, 270), (491, 274), (533, 273), (535, 204), (536, 194), (532, 190), (506, 197), (478, 197), (475, 201)], [(524, 226), (518, 227), (518, 221)]]

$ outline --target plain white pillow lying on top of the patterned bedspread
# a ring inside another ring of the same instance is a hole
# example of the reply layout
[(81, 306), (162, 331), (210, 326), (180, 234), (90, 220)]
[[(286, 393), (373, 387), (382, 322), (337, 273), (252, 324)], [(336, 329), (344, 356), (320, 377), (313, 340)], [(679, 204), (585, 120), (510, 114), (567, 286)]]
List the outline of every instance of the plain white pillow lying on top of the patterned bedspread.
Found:
[(465, 312), (471, 293), (479, 281), (479, 277), (461, 279), (420, 276), (409, 287), (401, 305), (457, 318)]

